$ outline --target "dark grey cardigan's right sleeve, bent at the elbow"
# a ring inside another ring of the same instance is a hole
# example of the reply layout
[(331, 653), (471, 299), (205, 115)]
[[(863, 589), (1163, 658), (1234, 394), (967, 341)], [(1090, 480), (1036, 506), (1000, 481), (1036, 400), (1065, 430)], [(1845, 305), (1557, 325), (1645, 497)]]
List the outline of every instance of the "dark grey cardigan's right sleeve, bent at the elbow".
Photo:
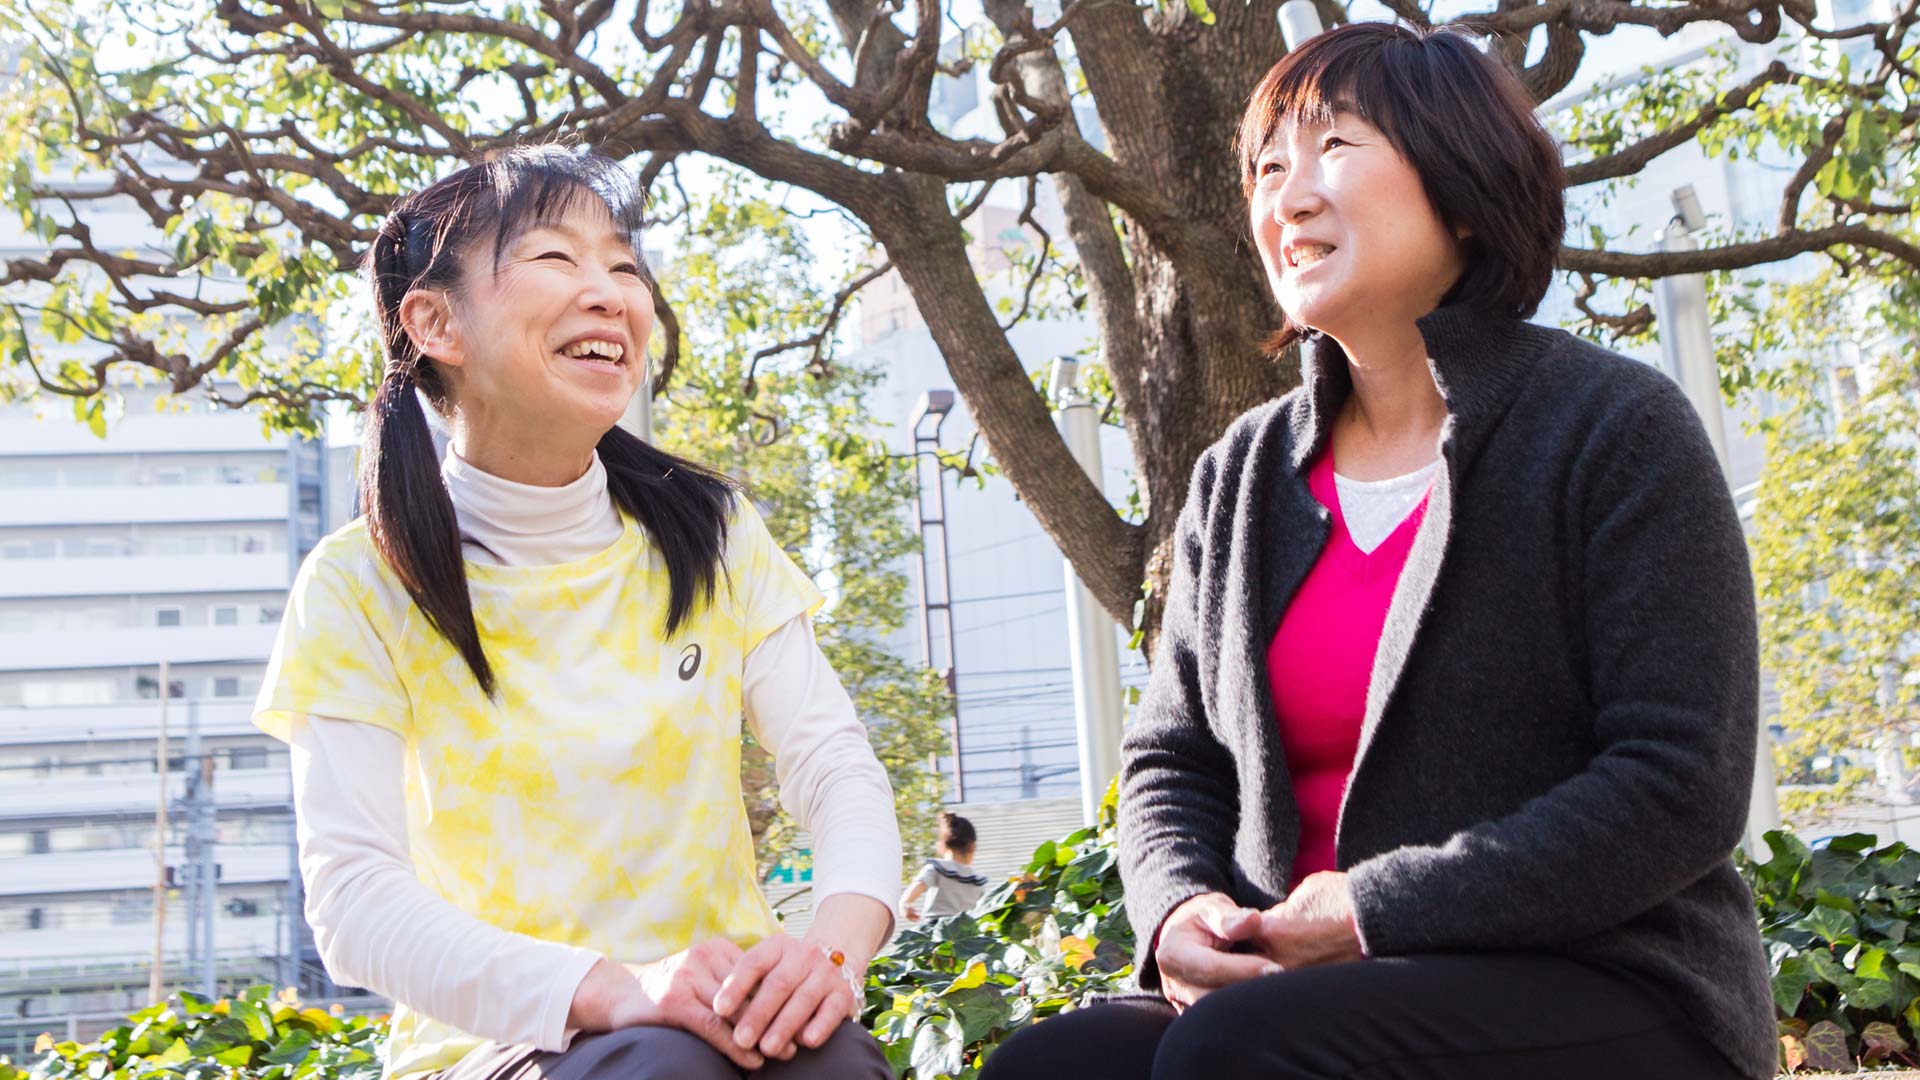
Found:
[(1759, 736), (1740, 517), (1676, 386), (1613, 415), (1569, 488), (1596, 753), (1503, 819), (1352, 867), (1373, 955), (1559, 945), (1672, 897), (1740, 840)]

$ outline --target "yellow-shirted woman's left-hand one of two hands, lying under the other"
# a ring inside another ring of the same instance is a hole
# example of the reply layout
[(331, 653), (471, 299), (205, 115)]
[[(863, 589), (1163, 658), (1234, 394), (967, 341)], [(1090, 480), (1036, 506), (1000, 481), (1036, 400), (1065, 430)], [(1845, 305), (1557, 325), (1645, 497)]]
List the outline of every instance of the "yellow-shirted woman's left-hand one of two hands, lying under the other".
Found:
[(733, 1042), (733, 1024), (714, 1013), (720, 982), (741, 959), (726, 938), (701, 942), (649, 965), (599, 961), (574, 990), (570, 1028), (612, 1032), (643, 1024), (699, 1036), (741, 1068), (760, 1068), (766, 1057)]

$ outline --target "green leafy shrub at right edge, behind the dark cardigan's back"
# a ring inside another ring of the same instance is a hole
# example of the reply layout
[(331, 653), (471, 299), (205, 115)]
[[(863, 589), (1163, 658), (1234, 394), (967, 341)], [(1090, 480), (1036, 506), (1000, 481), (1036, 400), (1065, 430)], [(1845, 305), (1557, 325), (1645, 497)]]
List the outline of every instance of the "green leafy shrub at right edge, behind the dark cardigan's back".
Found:
[(1766, 942), (1788, 1070), (1912, 1063), (1920, 1028), (1920, 851), (1866, 834), (1809, 849), (1768, 832), (1740, 859)]

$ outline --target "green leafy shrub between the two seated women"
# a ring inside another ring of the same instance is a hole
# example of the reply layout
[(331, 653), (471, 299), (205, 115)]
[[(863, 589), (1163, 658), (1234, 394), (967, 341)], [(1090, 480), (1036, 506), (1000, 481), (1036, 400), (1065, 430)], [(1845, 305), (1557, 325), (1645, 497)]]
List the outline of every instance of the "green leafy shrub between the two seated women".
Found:
[[(908, 926), (866, 980), (864, 1022), (899, 1076), (970, 1080), (1008, 1034), (1133, 974), (1114, 790), (1094, 828), (1046, 842), (970, 915)], [(908, 1068), (912, 1072), (908, 1072)]]

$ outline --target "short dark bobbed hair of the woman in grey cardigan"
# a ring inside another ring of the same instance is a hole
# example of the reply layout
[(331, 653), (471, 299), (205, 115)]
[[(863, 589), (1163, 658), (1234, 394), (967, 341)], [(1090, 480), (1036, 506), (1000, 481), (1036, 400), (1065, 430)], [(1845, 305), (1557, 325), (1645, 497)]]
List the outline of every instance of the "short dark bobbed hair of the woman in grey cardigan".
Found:
[(1348, 23), (1275, 63), (1240, 117), (1235, 156), (1254, 165), (1286, 123), (1350, 111), (1421, 177), (1440, 221), (1465, 233), (1467, 269), (1446, 304), (1524, 319), (1553, 284), (1567, 229), (1559, 148), (1519, 79), (1453, 29)]

